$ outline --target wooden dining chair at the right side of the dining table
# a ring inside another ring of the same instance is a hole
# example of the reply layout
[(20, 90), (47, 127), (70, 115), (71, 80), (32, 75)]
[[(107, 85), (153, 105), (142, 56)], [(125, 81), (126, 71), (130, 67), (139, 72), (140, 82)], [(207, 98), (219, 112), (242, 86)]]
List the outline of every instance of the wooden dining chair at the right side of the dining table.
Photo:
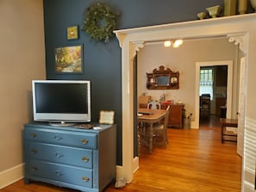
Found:
[(170, 106), (166, 108), (164, 122), (153, 126), (153, 145), (166, 147), (167, 144), (169, 143), (168, 136), (167, 136), (169, 108)]

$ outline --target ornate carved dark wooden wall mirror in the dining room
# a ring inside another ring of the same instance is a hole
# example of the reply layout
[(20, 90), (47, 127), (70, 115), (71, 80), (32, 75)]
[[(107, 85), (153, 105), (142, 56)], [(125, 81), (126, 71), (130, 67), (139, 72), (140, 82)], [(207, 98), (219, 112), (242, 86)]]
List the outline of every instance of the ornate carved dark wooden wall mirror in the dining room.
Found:
[(159, 69), (154, 69), (152, 73), (147, 73), (148, 90), (178, 90), (179, 72), (172, 71), (163, 65)]

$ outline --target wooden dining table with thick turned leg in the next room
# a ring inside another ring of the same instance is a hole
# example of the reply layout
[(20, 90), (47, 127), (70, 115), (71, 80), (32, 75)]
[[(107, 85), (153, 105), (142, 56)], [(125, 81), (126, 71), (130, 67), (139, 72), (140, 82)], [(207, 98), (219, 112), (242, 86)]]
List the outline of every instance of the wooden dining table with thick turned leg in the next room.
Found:
[(153, 149), (153, 123), (161, 121), (165, 118), (166, 110), (151, 109), (151, 108), (138, 108), (138, 123), (146, 123), (148, 131), (148, 152), (152, 153)]

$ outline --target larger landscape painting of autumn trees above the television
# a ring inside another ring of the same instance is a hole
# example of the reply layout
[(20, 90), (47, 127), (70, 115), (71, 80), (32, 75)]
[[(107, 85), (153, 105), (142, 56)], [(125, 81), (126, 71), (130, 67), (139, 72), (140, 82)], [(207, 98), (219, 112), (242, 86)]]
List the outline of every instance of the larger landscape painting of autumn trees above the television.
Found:
[(83, 72), (83, 46), (64, 46), (55, 48), (56, 73)]

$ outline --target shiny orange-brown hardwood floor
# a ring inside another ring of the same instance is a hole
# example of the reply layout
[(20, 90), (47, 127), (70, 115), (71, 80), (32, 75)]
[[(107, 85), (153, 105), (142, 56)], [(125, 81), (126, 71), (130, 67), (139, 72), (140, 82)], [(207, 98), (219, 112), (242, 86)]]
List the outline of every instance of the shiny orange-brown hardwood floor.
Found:
[[(218, 122), (218, 121), (217, 121)], [(209, 127), (207, 127), (209, 126)], [(110, 184), (106, 192), (240, 192), (241, 158), (235, 143), (221, 142), (221, 128), (215, 121), (204, 121), (200, 129), (168, 129), (166, 149), (142, 147), (140, 169), (134, 181), (122, 189)], [(1, 192), (74, 192), (45, 183), (25, 185), (18, 181)]]

